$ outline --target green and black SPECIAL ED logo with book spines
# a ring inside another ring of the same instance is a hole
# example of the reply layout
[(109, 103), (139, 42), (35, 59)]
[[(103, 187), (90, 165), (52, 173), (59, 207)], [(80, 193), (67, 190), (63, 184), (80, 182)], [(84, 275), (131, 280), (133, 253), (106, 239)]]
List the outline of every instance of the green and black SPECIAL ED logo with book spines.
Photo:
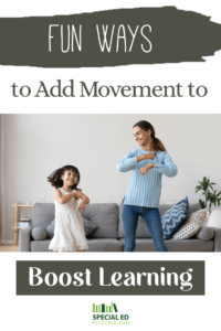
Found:
[(92, 324), (129, 324), (129, 316), (125, 313), (118, 313), (117, 305), (113, 302), (110, 302), (109, 306), (105, 303), (93, 303), (92, 312)]

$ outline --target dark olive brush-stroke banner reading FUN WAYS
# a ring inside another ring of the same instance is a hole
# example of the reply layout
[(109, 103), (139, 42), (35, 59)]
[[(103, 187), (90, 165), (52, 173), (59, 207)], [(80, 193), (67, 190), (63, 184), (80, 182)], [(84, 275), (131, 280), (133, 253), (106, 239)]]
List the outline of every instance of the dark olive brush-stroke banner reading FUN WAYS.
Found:
[(0, 65), (103, 67), (203, 62), (219, 50), (221, 24), (176, 7), (0, 18)]

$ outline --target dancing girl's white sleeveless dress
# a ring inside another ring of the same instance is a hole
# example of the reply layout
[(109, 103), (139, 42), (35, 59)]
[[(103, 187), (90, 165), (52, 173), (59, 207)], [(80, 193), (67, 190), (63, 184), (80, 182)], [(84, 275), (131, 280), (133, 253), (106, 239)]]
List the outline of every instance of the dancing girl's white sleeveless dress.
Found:
[[(59, 189), (62, 195), (70, 194)], [(73, 192), (76, 192), (73, 190)], [(67, 203), (55, 204), (55, 228), (49, 249), (54, 252), (84, 250), (88, 249), (85, 237), (83, 218), (77, 209), (77, 200), (72, 197)]]

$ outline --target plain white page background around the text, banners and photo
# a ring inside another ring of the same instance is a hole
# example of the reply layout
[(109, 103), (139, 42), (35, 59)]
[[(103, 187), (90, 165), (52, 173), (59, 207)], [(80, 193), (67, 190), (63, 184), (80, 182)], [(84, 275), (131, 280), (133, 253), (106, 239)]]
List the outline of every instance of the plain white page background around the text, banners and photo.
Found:
[[(99, 11), (114, 8), (177, 6), (179, 9), (201, 12), (221, 23), (220, 1), (10, 1), (1, 4), (1, 17), (53, 15)], [(187, 22), (188, 24), (188, 22)], [(164, 26), (162, 26), (164, 29)], [(0, 67), (1, 113), (50, 113), (50, 114), (214, 114), (220, 113), (220, 61), (221, 52), (207, 58), (206, 63), (133, 65), (116, 68), (41, 70), (29, 67)], [(38, 88), (43, 81), (50, 86), (56, 79), (63, 82), (74, 78), (88, 84), (98, 81), (104, 85), (206, 85), (206, 98), (13, 98), (11, 85), (30, 85)], [(212, 115), (211, 115), (212, 116)], [(64, 128), (65, 132), (65, 128)], [(188, 132), (187, 132), (188, 134)], [(101, 138), (103, 139), (103, 138)], [(183, 139), (186, 139), (183, 137)], [(202, 132), (208, 137), (207, 130)], [(209, 152), (209, 151), (208, 151)], [(208, 153), (203, 156), (208, 158)], [(211, 162), (213, 156), (209, 154)], [(203, 163), (202, 163), (203, 164)], [(30, 175), (30, 173), (28, 174)], [(13, 189), (13, 185), (12, 185)], [(112, 328), (92, 325), (92, 303), (99, 303), (103, 297), (15, 297), (17, 259), (203, 259), (206, 260), (204, 297), (106, 297), (105, 302), (114, 301), (123, 313), (130, 316), (128, 330), (155, 328), (157, 330), (185, 330), (219, 328), (219, 306), (217, 298), (220, 288), (220, 254), (93, 254), (65, 255), (51, 254), (0, 254), (0, 325), (18, 330), (51, 330), (76, 328)], [(133, 302), (133, 308), (131, 308)], [(136, 308), (134, 308), (136, 307)], [(86, 311), (86, 312), (85, 312)], [(190, 327), (191, 325), (191, 327)]]

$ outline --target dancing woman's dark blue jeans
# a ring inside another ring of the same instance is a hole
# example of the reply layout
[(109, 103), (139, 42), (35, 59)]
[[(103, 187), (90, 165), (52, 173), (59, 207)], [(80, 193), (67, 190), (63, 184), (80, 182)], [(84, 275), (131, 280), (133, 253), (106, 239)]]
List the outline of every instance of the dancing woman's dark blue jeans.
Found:
[(141, 216), (145, 220), (145, 223), (152, 237), (157, 252), (168, 252), (164, 241), (159, 210), (127, 204), (124, 205), (123, 211), (123, 223), (125, 231), (124, 252), (135, 250), (138, 216)]

